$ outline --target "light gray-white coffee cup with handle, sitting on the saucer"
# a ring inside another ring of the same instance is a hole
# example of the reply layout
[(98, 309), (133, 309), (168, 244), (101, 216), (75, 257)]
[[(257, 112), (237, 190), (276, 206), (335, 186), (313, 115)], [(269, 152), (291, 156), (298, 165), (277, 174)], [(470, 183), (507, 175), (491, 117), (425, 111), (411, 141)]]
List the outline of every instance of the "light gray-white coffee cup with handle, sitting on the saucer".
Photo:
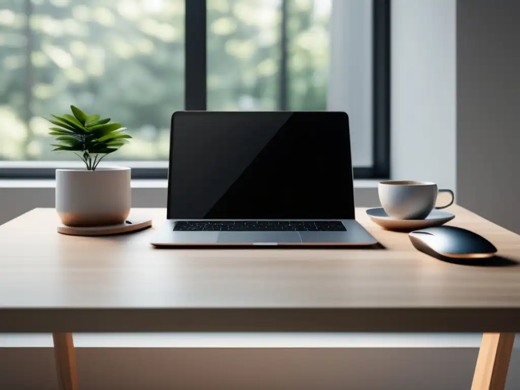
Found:
[[(453, 191), (437, 188), (431, 181), (388, 180), (379, 183), (379, 200), (388, 216), (396, 219), (424, 219), (433, 209), (445, 209), (454, 201)], [(451, 202), (436, 207), (437, 194), (448, 192)]]

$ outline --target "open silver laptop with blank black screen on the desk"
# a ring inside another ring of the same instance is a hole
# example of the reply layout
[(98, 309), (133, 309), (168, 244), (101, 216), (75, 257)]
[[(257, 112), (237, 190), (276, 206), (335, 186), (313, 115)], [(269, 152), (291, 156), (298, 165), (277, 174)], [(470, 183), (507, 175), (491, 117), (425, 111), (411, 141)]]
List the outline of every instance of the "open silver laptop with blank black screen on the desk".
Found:
[(154, 246), (372, 245), (345, 112), (179, 111)]

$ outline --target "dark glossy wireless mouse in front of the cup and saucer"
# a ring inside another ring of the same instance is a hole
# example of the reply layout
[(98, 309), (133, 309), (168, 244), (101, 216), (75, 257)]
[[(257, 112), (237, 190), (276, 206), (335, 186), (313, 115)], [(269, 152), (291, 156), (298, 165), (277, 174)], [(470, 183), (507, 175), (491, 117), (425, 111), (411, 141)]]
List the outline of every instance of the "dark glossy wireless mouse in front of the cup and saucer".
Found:
[(421, 252), (435, 252), (451, 258), (486, 258), (495, 255), (497, 248), (476, 233), (454, 227), (436, 226), (414, 230), (408, 234)]

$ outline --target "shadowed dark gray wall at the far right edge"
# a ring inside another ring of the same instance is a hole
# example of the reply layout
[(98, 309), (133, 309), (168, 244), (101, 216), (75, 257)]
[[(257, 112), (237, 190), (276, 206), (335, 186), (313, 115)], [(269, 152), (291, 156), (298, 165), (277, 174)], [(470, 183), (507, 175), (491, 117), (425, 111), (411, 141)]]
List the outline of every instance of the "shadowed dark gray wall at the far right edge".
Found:
[(520, 1), (457, 3), (457, 200), (520, 233)]

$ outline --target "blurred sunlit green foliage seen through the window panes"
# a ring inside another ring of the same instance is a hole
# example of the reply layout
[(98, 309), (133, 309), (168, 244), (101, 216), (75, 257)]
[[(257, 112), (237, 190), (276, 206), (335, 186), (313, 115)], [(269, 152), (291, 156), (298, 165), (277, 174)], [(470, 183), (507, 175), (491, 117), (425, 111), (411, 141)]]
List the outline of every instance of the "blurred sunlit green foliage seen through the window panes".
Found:
[[(330, 1), (289, 1), (292, 110), (326, 108)], [(280, 0), (207, 12), (208, 109), (277, 109)], [(0, 0), (0, 160), (69, 160), (42, 117), (71, 103), (128, 127), (114, 158), (167, 159), (184, 49), (184, 0)]]

